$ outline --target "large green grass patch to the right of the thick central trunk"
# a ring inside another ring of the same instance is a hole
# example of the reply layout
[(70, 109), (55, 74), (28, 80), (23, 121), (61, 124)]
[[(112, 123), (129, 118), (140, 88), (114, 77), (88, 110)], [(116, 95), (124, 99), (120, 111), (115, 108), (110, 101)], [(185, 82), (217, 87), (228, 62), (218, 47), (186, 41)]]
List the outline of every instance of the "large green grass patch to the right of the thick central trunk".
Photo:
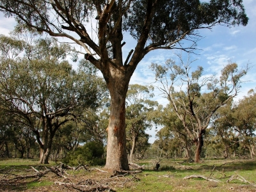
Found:
[[(144, 161), (145, 162), (145, 161)], [(147, 162), (147, 161), (146, 161)], [(163, 159), (160, 162), (159, 171), (153, 169), (144, 170), (138, 175), (139, 182), (118, 191), (256, 191), (256, 187), (235, 179), (227, 183), (232, 175), (241, 175), (249, 182), (256, 184), (255, 160), (206, 160), (203, 163), (183, 163), (182, 159)], [(143, 164), (141, 162), (136, 162)], [(148, 162), (147, 162), (148, 163)], [(149, 163), (150, 164), (150, 163)], [(213, 177), (220, 182), (205, 179), (184, 179), (189, 175), (204, 175)]]

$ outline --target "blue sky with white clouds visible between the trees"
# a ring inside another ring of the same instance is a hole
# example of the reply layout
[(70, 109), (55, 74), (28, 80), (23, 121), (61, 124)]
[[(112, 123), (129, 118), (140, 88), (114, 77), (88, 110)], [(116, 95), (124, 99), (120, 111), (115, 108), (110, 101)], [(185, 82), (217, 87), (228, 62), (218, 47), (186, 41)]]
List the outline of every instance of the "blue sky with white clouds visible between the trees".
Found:
[[(243, 67), (247, 63), (251, 66), (256, 65), (256, 1), (243, 0), (246, 14), (249, 17), (247, 26), (235, 26), (227, 28), (225, 26), (215, 26), (212, 30), (202, 29), (199, 31), (202, 40), (197, 44), (198, 50), (196, 54), (192, 55), (193, 58), (198, 59), (193, 65), (204, 67), (206, 73), (220, 73), (221, 68), (227, 65), (228, 61), (235, 62), (239, 67)], [(0, 13), (0, 34), (8, 35), (15, 26), (14, 19), (3, 17)], [(127, 42), (124, 46), (124, 60), (127, 53), (134, 48), (136, 43), (124, 34), (124, 41)], [(136, 68), (130, 84), (150, 84), (154, 83), (154, 74), (150, 70), (151, 63), (164, 64), (168, 59), (174, 59), (175, 51), (157, 50), (152, 51), (139, 63)], [(177, 51), (176, 51), (177, 52)], [(183, 53), (184, 56), (186, 53)], [(74, 65), (76, 67), (76, 64)], [(256, 67), (256, 66), (255, 66)], [(244, 83), (242, 84), (239, 95), (236, 100), (243, 98), (247, 95), (248, 90), (256, 88), (256, 73), (255, 67), (252, 67), (250, 72), (243, 77)], [(160, 104), (166, 104), (167, 100), (163, 99), (159, 92), (155, 92), (156, 100)], [(155, 131), (149, 131), (152, 135), (150, 142), (154, 141)]]

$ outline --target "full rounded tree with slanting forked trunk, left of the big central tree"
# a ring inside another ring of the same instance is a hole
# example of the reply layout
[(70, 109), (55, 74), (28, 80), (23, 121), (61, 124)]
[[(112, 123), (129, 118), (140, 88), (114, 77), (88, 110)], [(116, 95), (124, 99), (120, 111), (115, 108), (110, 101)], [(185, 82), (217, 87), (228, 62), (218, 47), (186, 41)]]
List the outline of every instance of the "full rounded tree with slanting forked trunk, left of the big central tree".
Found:
[(106, 89), (99, 77), (72, 70), (67, 44), (40, 39), (28, 47), (23, 58), (1, 60), (1, 102), (34, 132), (40, 163), (48, 163), (56, 131), (84, 108), (97, 107)]

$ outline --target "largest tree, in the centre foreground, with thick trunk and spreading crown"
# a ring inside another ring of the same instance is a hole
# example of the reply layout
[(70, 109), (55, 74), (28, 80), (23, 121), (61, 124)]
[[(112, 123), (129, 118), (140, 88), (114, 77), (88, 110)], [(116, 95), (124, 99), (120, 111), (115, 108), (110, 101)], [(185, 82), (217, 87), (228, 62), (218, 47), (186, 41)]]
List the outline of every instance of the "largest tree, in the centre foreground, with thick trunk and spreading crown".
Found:
[[(109, 1), (16, 1), (1, 0), (0, 11), (15, 17), (19, 26), (40, 33), (69, 38), (83, 47), (84, 58), (102, 72), (111, 96), (106, 168), (128, 170), (125, 145), (125, 96), (138, 63), (156, 49), (181, 47), (180, 40), (195, 45), (197, 29), (248, 22), (242, 1), (216, 0), (109, 0)], [(90, 24), (97, 20), (96, 35)], [(93, 22), (93, 21), (92, 21)], [(123, 34), (137, 40), (134, 49), (122, 54)], [(67, 32), (67, 33), (66, 33)], [(95, 38), (95, 36), (97, 38)], [(126, 54), (126, 53), (125, 53)], [(123, 61), (123, 58), (126, 58)]]

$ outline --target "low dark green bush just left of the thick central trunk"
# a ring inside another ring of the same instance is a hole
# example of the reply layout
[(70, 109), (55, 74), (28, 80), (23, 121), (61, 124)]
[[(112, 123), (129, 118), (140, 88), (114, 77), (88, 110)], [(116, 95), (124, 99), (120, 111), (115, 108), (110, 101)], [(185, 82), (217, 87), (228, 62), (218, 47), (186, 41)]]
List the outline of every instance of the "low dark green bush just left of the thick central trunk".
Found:
[(72, 152), (68, 152), (64, 163), (76, 166), (78, 164), (103, 165), (105, 159), (102, 158), (104, 147), (102, 143), (92, 141), (84, 144), (82, 147), (76, 148)]

